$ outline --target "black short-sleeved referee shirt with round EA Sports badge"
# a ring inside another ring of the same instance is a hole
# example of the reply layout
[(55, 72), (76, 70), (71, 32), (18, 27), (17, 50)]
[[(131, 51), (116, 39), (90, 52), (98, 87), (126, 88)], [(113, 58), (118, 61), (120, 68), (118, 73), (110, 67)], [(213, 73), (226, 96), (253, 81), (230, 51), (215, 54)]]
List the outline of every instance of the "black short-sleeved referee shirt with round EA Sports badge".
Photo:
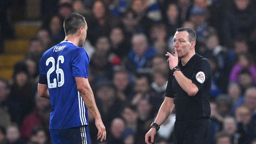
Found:
[(178, 84), (172, 71), (168, 74), (168, 83), (165, 89), (167, 97), (174, 98), (176, 120), (193, 120), (210, 118), (210, 89), (212, 84), (212, 70), (208, 59), (197, 53), (182, 66), (178, 62), (181, 72), (198, 87), (195, 96), (189, 96)]

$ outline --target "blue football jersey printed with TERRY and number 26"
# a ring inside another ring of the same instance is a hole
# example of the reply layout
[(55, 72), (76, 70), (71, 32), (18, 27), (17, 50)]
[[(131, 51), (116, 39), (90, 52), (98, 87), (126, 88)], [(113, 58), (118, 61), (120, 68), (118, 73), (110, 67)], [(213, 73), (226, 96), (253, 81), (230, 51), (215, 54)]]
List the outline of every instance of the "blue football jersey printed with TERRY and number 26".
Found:
[(50, 129), (88, 125), (87, 108), (77, 90), (75, 77), (88, 78), (90, 59), (82, 47), (64, 40), (41, 57), (40, 78), (47, 78), (52, 105)]

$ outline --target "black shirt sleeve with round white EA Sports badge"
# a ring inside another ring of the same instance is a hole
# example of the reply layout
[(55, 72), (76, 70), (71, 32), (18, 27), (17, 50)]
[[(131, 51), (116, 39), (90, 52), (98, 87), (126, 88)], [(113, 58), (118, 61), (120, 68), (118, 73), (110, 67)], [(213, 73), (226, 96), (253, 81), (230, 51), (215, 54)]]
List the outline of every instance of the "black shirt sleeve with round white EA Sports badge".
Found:
[(197, 66), (194, 67), (191, 80), (200, 90), (211, 76), (210, 62), (206, 58), (202, 58), (198, 61)]

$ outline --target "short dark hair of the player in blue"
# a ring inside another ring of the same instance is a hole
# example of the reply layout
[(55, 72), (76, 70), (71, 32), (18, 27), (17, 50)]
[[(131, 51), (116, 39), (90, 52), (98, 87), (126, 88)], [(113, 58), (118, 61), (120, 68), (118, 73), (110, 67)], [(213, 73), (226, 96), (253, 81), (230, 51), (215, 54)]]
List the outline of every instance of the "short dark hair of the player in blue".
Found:
[(63, 27), (67, 36), (75, 34), (80, 27), (84, 27), (85, 25), (84, 16), (79, 13), (71, 13), (65, 18)]

